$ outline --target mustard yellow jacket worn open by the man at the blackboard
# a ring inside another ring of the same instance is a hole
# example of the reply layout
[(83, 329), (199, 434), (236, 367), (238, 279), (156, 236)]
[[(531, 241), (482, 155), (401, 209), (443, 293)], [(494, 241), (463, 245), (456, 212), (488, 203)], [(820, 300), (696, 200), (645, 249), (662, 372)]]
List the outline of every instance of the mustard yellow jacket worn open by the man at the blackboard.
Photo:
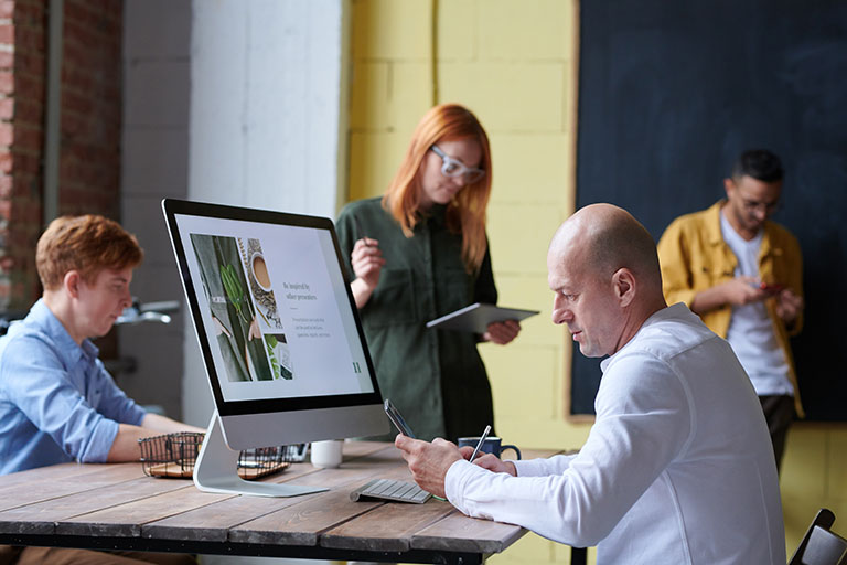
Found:
[[(658, 260), (667, 303), (685, 302), (690, 308), (697, 292), (735, 278), (737, 259), (720, 233), (720, 209), (725, 203), (721, 200), (707, 210), (677, 217), (662, 234)], [(762, 248), (759, 252), (759, 278), (769, 285), (784, 285), (797, 296), (803, 296), (803, 256), (800, 244), (787, 230), (770, 221), (764, 224)], [(765, 306), (789, 364), (797, 416), (804, 417), (794, 358), (789, 344), (789, 337), (795, 335), (803, 328), (803, 313), (801, 311), (789, 329), (774, 311), (775, 299), (768, 299)], [(711, 331), (726, 338), (731, 316), (732, 307), (725, 305), (700, 318)]]

